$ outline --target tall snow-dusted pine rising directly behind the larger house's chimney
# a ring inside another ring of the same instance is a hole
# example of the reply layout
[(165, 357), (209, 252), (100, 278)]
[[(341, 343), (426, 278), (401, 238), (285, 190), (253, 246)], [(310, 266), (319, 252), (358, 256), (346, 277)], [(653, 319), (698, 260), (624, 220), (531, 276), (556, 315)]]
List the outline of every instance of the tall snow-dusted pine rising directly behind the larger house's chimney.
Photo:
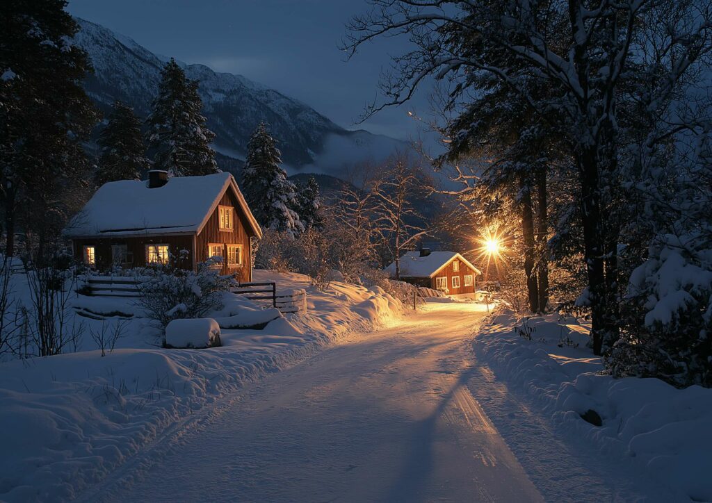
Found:
[(155, 169), (172, 176), (218, 173), (210, 142), (215, 134), (205, 127), (197, 80), (189, 80), (173, 58), (161, 71), (162, 80), (148, 117), (148, 141), (155, 150)]

